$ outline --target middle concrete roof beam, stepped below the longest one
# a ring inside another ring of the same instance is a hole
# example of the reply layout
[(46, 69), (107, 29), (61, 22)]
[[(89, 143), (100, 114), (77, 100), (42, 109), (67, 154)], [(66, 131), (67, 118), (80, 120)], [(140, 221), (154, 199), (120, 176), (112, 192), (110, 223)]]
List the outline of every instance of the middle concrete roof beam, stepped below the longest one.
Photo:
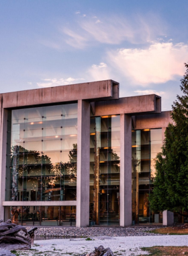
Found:
[(140, 113), (160, 113), (161, 98), (155, 94), (119, 98), (107, 102), (95, 102), (95, 116)]

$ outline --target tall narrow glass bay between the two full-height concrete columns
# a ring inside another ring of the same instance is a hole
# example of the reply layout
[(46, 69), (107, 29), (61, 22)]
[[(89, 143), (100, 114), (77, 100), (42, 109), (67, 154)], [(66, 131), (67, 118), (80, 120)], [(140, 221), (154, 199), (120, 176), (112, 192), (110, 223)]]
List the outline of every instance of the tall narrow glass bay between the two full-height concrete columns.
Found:
[(120, 115), (92, 117), (90, 224), (120, 222)]

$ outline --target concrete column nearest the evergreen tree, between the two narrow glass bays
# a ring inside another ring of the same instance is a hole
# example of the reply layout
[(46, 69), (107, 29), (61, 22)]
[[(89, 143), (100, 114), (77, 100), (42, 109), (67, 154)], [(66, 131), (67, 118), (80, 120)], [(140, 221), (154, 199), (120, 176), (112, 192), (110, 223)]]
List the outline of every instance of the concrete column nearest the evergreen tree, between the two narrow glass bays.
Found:
[(120, 226), (132, 225), (132, 118), (120, 115)]

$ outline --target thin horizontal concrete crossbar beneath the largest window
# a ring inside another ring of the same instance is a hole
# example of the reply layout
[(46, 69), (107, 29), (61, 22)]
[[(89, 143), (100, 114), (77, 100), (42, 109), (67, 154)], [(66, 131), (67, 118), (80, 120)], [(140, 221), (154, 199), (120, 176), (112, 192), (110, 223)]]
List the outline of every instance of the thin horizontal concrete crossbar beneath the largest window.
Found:
[(3, 201), (3, 206), (77, 206), (77, 201)]

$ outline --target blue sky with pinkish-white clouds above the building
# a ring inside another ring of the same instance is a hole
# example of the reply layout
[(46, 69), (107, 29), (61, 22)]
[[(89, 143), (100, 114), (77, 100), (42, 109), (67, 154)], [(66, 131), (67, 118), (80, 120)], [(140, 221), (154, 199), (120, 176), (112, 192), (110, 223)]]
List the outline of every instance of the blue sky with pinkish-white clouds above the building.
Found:
[(187, 62), (187, 0), (0, 0), (0, 93), (113, 79), (171, 110)]

